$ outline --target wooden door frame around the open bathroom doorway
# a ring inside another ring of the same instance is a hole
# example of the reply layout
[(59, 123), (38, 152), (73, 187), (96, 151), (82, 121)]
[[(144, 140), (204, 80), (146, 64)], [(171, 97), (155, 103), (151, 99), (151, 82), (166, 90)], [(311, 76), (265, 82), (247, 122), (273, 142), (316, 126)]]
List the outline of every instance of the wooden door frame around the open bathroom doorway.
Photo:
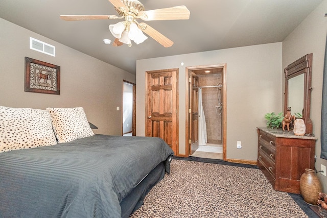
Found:
[(189, 157), (190, 155), (190, 116), (189, 116), (189, 111), (190, 111), (190, 78), (189, 78), (189, 71), (192, 70), (198, 70), (198, 69), (206, 69), (206, 68), (222, 68), (222, 90), (223, 90), (223, 120), (222, 120), (222, 125), (223, 125), (223, 160), (227, 160), (227, 64), (214, 64), (214, 65), (202, 65), (202, 66), (189, 66), (186, 67), (185, 71), (185, 81), (186, 81), (186, 104), (185, 104), (185, 114), (188, 114), (186, 116), (186, 134), (185, 134), (185, 156)]

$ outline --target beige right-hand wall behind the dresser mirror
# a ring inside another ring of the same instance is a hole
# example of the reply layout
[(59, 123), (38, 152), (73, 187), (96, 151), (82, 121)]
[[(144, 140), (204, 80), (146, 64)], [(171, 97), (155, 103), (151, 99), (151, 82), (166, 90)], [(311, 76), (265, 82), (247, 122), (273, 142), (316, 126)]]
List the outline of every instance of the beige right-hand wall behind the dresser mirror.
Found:
[[(310, 118), (313, 122), (313, 133), (318, 138), (316, 141), (317, 170), (320, 164), (327, 166), (327, 160), (320, 159), (321, 142), (321, 98), (322, 78), (324, 65), (324, 52), (326, 42), (327, 17), (325, 13), (327, 0), (324, 0), (301, 24), (283, 41), (283, 68), (298, 58), (313, 53), (312, 58), (312, 82)], [(284, 74), (283, 74), (284, 76)], [(284, 86), (283, 86), (284, 88)], [(284, 93), (284, 91), (283, 91)], [(323, 190), (327, 191), (326, 177), (318, 174), (323, 184)]]

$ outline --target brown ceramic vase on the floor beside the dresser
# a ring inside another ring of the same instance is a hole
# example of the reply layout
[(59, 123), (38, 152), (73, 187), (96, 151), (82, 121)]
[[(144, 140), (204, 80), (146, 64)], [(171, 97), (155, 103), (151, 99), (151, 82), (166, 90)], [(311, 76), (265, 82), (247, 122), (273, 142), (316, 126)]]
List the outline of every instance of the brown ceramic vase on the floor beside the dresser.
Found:
[(306, 168), (300, 177), (300, 193), (306, 203), (316, 205), (321, 184), (313, 169)]

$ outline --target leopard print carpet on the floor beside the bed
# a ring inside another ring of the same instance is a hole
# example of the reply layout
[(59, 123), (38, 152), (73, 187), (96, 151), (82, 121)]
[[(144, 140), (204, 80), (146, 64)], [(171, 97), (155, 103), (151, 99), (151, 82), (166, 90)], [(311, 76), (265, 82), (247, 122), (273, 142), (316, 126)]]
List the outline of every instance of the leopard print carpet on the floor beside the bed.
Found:
[(308, 217), (260, 169), (173, 160), (130, 217)]

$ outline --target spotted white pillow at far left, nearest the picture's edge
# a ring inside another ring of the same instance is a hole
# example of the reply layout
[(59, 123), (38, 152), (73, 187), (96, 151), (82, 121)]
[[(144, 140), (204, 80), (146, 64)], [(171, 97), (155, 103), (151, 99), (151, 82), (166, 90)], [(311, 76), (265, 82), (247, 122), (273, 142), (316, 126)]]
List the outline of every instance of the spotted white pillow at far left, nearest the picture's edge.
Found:
[(0, 153), (57, 144), (50, 113), (0, 106)]

